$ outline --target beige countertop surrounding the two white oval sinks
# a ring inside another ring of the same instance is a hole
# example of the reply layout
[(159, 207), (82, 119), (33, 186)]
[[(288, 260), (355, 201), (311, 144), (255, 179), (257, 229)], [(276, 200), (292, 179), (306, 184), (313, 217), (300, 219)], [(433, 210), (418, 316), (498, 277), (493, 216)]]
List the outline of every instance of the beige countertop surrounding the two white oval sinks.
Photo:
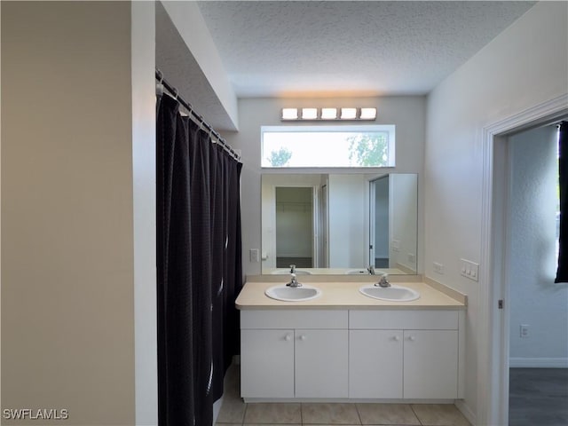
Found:
[[(298, 276), (302, 282), (302, 277)], [(411, 302), (388, 302), (367, 297), (359, 293), (359, 288), (367, 282), (330, 280), (326, 282), (305, 282), (305, 286), (317, 287), (321, 296), (304, 302), (281, 302), (264, 295), (264, 290), (287, 280), (247, 281), (235, 302), (237, 309), (465, 309), (467, 297), (452, 288), (436, 282), (398, 281), (392, 285), (413, 288), (420, 298)]]

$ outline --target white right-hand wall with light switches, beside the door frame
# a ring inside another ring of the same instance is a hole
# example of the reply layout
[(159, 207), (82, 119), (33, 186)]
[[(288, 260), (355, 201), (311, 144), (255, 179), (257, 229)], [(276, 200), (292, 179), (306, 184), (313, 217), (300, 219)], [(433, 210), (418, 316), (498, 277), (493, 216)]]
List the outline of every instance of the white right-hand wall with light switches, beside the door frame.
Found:
[[(483, 405), (477, 411), (477, 390), (485, 385), (477, 380), (477, 356), (488, 336), (478, 334), (478, 296), (490, 283), (461, 277), (460, 258), (479, 262), (482, 250), (483, 129), (568, 91), (567, 7), (535, 5), (428, 98), (424, 272), (469, 296), (462, 409), (477, 414), (479, 424), (486, 413)], [(444, 264), (443, 275), (433, 262)]]

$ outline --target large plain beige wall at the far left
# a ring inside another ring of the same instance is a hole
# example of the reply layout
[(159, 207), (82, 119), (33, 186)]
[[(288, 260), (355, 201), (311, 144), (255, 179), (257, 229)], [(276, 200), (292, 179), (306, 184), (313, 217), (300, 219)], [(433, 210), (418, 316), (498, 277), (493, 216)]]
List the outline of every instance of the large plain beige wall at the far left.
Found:
[(134, 424), (130, 3), (1, 7), (2, 408)]

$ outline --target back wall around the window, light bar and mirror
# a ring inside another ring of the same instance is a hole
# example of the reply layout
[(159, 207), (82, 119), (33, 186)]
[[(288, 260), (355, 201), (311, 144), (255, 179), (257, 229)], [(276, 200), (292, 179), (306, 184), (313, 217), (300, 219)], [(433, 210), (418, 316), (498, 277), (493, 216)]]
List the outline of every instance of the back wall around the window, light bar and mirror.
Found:
[[(261, 175), (260, 127), (282, 125), (281, 108), (287, 106), (375, 106), (378, 110), (376, 124), (395, 124), (397, 167), (388, 171), (418, 173), (422, 175), (425, 129), (425, 98), (384, 97), (360, 99), (241, 99), (239, 101), (239, 128), (237, 132), (224, 132), (227, 142), (242, 151), (241, 175), (242, 246), (243, 271), (245, 274), (260, 273), (260, 263), (252, 263), (248, 257), (250, 248), (260, 248), (261, 243)], [(317, 170), (327, 173), (333, 170)], [(385, 170), (386, 171), (386, 170)], [(302, 173), (303, 170), (296, 170)], [(421, 184), (422, 185), (422, 184)], [(422, 187), (419, 188), (419, 252), (422, 252)], [(422, 256), (418, 256), (419, 259)], [(420, 267), (420, 265), (419, 265)]]

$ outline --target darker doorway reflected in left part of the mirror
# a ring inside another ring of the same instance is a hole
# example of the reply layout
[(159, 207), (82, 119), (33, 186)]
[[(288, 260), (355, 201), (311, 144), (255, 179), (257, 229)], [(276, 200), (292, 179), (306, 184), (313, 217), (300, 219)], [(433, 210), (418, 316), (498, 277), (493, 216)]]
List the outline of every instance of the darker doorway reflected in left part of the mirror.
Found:
[(312, 268), (314, 203), (312, 187), (276, 190), (276, 267)]

